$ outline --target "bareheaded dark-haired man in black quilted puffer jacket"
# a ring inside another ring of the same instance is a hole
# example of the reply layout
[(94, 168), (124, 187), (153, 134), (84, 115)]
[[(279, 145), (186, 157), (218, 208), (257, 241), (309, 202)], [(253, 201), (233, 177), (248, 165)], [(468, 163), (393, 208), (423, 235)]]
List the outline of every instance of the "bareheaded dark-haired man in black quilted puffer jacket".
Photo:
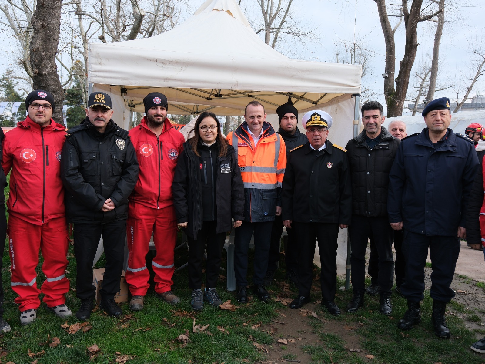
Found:
[(400, 140), (381, 126), (385, 119), (383, 111), (377, 101), (364, 104), (361, 110), (364, 130), (345, 147), (350, 162), (353, 199), (349, 234), (354, 297), (347, 305), (347, 311), (356, 312), (364, 303), (365, 253), (367, 240), (373, 235), (379, 253), (379, 311), (389, 315), (392, 312), (390, 295), (394, 261), (391, 248), (393, 231), (387, 213), (388, 184)]

